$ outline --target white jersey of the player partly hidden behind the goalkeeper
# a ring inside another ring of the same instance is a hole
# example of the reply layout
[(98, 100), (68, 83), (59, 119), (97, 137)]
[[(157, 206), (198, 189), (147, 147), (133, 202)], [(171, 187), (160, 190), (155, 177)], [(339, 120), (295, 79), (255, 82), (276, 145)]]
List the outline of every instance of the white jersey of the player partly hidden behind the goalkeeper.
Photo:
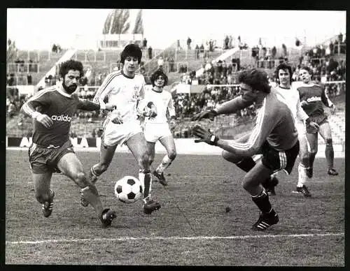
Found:
[(279, 98), (279, 101), (288, 105), (296, 123), (300, 124), (304, 122), (305, 119), (309, 118), (300, 105), (300, 97), (297, 89), (294, 89), (293, 87), (290, 87), (290, 89), (284, 89), (280, 86), (274, 87), (274, 89), (276, 90), (276, 96)]

